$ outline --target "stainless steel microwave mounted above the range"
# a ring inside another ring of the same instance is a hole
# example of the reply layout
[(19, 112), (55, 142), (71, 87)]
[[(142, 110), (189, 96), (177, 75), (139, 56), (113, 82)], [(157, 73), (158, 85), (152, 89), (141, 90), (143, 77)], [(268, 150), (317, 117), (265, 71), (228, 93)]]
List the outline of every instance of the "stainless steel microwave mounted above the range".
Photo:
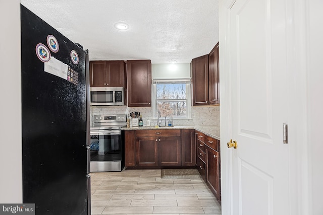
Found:
[(90, 87), (90, 105), (123, 105), (123, 87)]

